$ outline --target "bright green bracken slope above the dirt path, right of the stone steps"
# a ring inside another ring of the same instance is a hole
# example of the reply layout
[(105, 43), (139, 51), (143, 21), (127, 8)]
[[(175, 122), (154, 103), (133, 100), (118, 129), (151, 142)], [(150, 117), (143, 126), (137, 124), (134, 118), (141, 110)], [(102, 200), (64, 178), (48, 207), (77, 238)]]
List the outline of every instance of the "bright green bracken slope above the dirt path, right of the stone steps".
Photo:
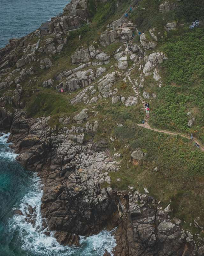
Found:
[[(204, 29), (171, 36), (164, 45), (169, 60), (162, 65), (165, 86), (157, 90), (151, 122), (166, 130), (193, 132), (204, 142)], [(195, 118), (188, 128), (187, 112)]]

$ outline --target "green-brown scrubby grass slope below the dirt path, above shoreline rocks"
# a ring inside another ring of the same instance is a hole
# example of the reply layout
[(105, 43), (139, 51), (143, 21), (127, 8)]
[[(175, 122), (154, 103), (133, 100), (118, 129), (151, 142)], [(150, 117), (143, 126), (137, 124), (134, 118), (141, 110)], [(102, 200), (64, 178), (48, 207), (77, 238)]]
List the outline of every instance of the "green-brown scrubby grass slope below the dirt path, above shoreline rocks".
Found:
[[(172, 217), (180, 218), (186, 229), (195, 232), (189, 224), (198, 216), (201, 225), (204, 221), (203, 152), (193, 146), (193, 141), (179, 135), (158, 133), (134, 124), (116, 127), (112, 134), (117, 137), (111, 146), (112, 152), (120, 152), (122, 162), (119, 171), (109, 172), (111, 186), (120, 190), (130, 186), (141, 193), (146, 187), (150, 196), (161, 200), (163, 209), (171, 199)], [(133, 161), (131, 153), (138, 149), (146, 156)], [(154, 171), (155, 167), (158, 172)], [(121, 181), (116, 181), (118, 178)]]

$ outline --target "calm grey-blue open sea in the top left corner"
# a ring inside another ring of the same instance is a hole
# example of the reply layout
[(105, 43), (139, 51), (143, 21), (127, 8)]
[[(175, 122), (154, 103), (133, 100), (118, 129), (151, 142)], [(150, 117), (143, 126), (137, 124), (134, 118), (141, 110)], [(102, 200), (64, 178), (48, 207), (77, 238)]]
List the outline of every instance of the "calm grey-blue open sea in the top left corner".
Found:
[(70, 0), (0, 0), (0, 49), (63, 12)]

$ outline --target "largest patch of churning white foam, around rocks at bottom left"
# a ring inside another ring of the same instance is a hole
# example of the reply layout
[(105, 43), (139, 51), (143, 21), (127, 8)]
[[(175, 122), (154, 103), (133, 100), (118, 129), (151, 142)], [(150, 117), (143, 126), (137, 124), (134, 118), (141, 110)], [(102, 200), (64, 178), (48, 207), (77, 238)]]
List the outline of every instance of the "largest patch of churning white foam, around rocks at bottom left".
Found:
[[(42, 230), (41, 197), (40, 179), (34, 174), (30, 192), (23, 197), (18, 208), (23, 212), (23, 215), (14, 215), (10, 224), (10, 228), (14, 229), (14, 232), (18, 232), (21, 249), (27, 256), (103, 256), (105, 249), (113, 255), (112, 250), (116, 246), (115, 238), (111, 236), (112, 232), (106, 230), (85, 239), (81, 236), (78, 247), (60, 245), (54, 237), (54, 231), (50, 232), (50, 236), (46, 236), (45, 230)], [(36, 214), (34, 226), (25, 221), (29, 205)]]

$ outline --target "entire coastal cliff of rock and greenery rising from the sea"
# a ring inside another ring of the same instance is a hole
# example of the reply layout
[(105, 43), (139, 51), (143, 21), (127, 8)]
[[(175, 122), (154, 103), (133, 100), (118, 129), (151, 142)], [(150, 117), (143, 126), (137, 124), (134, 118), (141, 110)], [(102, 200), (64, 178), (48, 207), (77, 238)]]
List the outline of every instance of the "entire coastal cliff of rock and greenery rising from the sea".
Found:
[[(48, 33), (10, 40), (0, 50), (0, 130), (10, 132), (19, 163), (39, 173), (42, 226), (46, 235), (56, 231), (61, 245), (118, 227), (115, 256), (201, 256), (203, 153), (186, 138), (137, 124), (146, 116), (154, 127), (193, 132), (202, 142), (202, 113), (196, 101), (185, 108), (182, 85), (178, 103), (168, 66), (176, 55), (171, 41), (182, 35), (185, 44), (192, 34), (203, 41), (202, 22), (187, 30), (179, 16), (185, 1), (146, 2), (76, 1), (74, 16), (71, 2)], [(115, 26), (128, 7), (123, 26)], [(193, 199), (195, 209), (188, 208)], [(27, 221), (35, 221), (33, 210)]]

